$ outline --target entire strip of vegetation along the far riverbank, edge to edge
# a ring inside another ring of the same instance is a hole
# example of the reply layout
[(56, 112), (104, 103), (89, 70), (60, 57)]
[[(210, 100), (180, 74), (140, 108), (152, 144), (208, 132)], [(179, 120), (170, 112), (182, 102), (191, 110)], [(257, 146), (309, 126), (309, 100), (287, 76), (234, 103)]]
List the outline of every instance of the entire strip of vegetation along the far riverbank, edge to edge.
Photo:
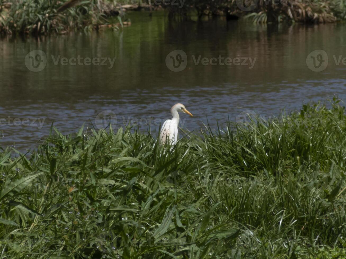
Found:
[[(128, 3), (134, 4), (128, 4)], [(346, 18), (345, 0), (3, 0), (0, 2), (0, 32), (65, 33), (71, 30), (92, 30), (119, 26), (109, 20), (121, 17), (124, 8), (132, 10), (168, 11), (169, 17), (226, 16), (227, 19), (245, 17), (255, 23), (302, 22), (326, 23)]]

